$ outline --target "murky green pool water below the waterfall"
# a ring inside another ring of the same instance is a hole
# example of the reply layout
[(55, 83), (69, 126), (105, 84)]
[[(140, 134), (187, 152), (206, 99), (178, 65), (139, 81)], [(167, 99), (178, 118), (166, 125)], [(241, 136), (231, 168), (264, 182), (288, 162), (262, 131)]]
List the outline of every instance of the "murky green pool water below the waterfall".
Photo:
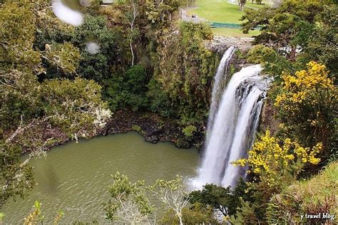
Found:
[(57, 211), (64, 212), (63, 223), (73, 221), (108, 222), (103, 202), (108, 200), (111, 174), (119, 171), (131, 181), (145, 179), (185, 180), (194, 177), (198, 168), (198, 150), (182, 150), (170, 143), (151, 144), (136, 132), (68, 142), (54, 147), (46, 159), (31, 159), (36, 187), (29, 197), (8, 202), (0, 211), (6, 214), (4, 224), (20, 224), (39, 200), (45, 224)]

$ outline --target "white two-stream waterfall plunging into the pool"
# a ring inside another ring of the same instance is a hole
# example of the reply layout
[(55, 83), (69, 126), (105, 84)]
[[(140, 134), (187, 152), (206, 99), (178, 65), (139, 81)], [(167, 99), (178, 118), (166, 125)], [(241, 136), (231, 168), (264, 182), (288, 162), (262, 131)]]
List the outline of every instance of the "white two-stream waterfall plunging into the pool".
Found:
[(231, 162), (247, 156), (252, 147), (268, 81), (260, 65), (247, 66), (232, 75), (226, 88), (222, 83), (235, 49), (224, 54), (212, 86), (205, 155), (195, 187), (206, 183), (235, 187), (246, 168)]

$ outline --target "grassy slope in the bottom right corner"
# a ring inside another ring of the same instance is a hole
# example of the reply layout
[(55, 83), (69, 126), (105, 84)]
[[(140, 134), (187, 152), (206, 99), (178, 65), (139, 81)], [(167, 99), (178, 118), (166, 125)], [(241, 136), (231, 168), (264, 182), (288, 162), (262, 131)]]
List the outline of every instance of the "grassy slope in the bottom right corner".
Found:
[[(269, 208), (271, 224), (304, 222), (300, 215), (307, 214), (338, 214), (338, 162), (327, 166), (320, 174), (311, 179), (295, 182), (287, 187), (282, 194), (272, 198)], [(337, 217), (337, 216), (336, 216)], [(335, 221), (323, 219), (308, 219), (313, 224), (334, 224)]]

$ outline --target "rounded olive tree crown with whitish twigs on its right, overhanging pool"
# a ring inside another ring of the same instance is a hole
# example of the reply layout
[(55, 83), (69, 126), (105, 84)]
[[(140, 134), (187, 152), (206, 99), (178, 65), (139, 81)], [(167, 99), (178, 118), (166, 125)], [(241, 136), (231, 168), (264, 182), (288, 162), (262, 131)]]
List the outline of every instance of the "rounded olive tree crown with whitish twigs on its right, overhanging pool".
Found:
[(45, 116), (74, 138), (93, 136), (111, 117), (93, 80), (46, 80), (41, 92)]

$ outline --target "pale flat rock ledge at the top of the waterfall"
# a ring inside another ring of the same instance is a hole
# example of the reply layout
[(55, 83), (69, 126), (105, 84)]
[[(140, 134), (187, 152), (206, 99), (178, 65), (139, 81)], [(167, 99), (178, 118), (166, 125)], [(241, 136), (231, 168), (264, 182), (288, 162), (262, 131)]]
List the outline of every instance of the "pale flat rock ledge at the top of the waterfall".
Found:
[(212, 41), (207, 44), (207, 47), (211, 51), (222, 51), (224, 52), (230, 46), (235, 46), (236, 48), (246, 51), (251, 48), (254, 38), (237, 38), (237, 37), (224, 37), (224, 36), (214, 36)]

